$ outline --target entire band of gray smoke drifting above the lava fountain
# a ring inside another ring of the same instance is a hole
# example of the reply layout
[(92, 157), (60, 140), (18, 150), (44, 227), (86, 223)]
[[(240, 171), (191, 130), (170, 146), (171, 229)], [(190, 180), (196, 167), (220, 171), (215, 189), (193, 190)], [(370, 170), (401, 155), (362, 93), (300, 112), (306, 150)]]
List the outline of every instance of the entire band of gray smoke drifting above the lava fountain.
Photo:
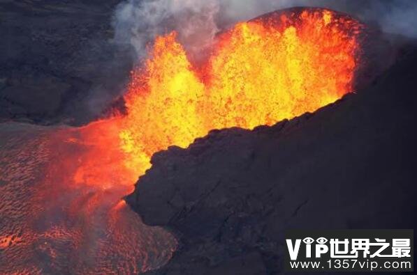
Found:
[(198, 55), (217, 31), (293, 6), (331, 8), (379, 24), (388, 33), (417, 37), (417, 1), (413, 0), (127, 0), (115, 12), (115, 40), (133, 46), (140, 59), (156, 35), (175, 30), (182, 45)]

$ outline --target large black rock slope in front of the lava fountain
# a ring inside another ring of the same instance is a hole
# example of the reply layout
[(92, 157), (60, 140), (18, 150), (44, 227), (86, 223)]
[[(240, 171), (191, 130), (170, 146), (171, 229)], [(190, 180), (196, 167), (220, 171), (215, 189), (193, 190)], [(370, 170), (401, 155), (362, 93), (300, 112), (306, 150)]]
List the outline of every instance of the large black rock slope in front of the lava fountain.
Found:
[(414, 228), (417, 52), (314, 114), (156, 153), (128, 203), (181, 242), (155, 274), (277, 274), (288, 228)]

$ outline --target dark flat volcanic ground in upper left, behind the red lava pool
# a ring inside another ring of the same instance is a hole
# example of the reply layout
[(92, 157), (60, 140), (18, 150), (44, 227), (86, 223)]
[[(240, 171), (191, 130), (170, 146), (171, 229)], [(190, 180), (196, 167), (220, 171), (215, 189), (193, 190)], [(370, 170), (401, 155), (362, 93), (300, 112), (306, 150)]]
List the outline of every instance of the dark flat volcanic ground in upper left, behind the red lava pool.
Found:
[(133, 60), (112, 41), (117, 3), (1, 1), (0, 120), (76, 125), (100, 116)]

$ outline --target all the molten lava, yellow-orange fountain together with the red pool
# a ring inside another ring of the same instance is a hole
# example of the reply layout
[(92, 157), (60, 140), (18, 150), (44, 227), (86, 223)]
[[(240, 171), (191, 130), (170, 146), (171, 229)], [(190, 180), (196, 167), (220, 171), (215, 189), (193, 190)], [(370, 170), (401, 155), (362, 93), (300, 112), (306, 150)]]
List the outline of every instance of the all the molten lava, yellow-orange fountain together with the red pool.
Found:
[(155, 152), (211, 129), (272, 125), (353, 90), (363, 26), (295, 8), (220, 33), (193, 64), (176, 33), (132, 73), (128, 113), (85, 127), (0, 125), (0, 273), (137, 274), (177, 246), (126, 206)]

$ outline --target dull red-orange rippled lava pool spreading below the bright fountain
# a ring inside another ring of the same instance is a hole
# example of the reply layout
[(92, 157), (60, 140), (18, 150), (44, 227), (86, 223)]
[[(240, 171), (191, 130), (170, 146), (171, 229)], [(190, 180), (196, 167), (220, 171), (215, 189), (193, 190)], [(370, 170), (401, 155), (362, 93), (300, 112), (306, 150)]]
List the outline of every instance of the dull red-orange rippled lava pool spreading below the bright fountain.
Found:
[(93, 142), (117, 141), (116, 122), (0, 124), (0, 274), (138, 274), (168, 262), (175, 237), (122, 201), (137, 176), (117, 143)]

